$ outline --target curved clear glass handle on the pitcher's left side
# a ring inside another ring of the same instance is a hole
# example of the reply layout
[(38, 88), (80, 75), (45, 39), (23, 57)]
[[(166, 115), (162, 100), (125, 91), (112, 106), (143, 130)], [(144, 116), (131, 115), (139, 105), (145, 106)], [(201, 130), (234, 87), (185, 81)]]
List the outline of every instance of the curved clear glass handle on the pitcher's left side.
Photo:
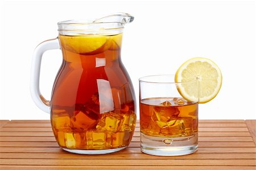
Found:
[(60, 43), (58, 38), (46, 40), (40, 43), (36, 48), (32, 56), (32, 67), (31, 67), (31, 77), (30, 77), (30, 93), (36, 106), (50, 113), (49, 101), (42, 96), (39, 88), (39, 78), (40, 78), (40, 67), (43, 53), (50, 49), (60, 49)]

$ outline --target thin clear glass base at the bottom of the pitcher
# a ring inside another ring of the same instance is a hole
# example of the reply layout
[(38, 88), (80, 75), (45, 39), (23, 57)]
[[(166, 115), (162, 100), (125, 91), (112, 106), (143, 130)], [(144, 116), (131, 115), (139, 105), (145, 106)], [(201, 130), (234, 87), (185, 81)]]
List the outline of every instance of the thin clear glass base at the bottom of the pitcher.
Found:
[(64, 151), (72, 152), (75, 154), (86, 154), (86, 155), (101, 155), (101, 154), (110, 154), (113, 152), (117, 152), (120, 150), (123, 150), (125, 147), (121, 148), (114, 148), (114, 149), (109, 149), (109, 150), (73, 150), (73, 149), (68, 149), (68, 148), (62, 148)]

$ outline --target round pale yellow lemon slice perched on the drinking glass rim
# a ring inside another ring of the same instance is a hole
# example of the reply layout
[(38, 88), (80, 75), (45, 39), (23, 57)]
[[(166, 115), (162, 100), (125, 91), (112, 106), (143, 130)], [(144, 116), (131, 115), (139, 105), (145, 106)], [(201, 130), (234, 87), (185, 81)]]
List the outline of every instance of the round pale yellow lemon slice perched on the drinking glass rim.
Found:
[(196, 57), (185, 61), (175, 74), (180, 95), (188, 101), (206, 103), (220, 91), (222, 75), (212, 60)]

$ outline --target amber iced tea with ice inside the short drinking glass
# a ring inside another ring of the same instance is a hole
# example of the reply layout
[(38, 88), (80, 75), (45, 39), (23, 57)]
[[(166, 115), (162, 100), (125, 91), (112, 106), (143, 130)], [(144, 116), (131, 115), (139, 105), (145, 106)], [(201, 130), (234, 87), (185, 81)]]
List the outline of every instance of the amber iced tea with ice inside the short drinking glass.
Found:
[(183, 98), (146, 98), (141, 100), (140, 110), (144, 135), (175, 138), (197, 134), (197, 103)]

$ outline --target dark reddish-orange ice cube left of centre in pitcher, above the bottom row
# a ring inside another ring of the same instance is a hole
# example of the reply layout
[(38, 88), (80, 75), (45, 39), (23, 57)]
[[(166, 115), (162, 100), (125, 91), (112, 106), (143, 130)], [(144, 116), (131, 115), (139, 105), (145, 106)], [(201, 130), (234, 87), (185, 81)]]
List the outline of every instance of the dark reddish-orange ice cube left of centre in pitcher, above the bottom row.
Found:
[(93, 105), (83, 105), (76, 110), (75, 115), (71, 118), (71, 127), (76, 130), (89, 130), (90, 128), (96, 128), (96, 125), (101, 117)]

